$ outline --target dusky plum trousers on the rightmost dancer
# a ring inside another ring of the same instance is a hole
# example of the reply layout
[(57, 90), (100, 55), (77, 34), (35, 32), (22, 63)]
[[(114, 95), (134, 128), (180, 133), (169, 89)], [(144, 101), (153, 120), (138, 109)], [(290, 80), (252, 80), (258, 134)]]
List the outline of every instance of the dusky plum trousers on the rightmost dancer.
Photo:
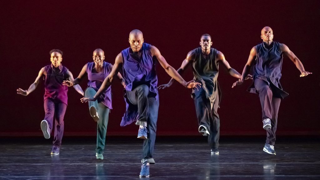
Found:
[(271, 119), (271, 129), (267, 129), (266, 144), (275, 145), (278, 111), (281, 98), (273, 96), (268, 82), (262, 79), (256, 78), (254, 80), (254, 86), (259, 92), (259, 98), (262, 108), (262, 120), (267, 118)]

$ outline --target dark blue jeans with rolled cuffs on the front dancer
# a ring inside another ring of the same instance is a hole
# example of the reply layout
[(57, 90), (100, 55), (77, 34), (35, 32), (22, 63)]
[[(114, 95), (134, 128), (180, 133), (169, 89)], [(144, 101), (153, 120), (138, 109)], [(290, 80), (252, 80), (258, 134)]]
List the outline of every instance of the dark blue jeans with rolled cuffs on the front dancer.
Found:
[(146, 121), (146, 124), (148, 124), (148, 139), (143, 141), (141, 162), (155, 163), (152, 154), (156, 140), (159, 100), (156, 101), (155, 97), (148, 97), (148, 94), (149, 87), (147, 85), (140, 85), (132, 91), (127, 91), (127, 98), (133, 105), (138, 106), (138, 120), (141, 122)]

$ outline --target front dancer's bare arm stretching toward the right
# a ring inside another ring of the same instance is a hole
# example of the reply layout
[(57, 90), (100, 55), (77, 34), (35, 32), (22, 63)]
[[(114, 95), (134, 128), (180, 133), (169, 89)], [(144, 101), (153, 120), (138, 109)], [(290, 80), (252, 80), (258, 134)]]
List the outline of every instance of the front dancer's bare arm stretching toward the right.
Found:
[(174, 69), (172, 68), (167, 61), (165, 61), (164, 57), (161, 55), (160, 51), (155, 47), (155, 46), (151, 46), (150, 48), (150, 52), (152, 54), (152, 56), (156, 56), (157, 60), (159, 61), (160, 65), (164, 68), (164, 70), (169, 74), (169, 76), (171, 76), (173, 79), (175, 79), (176, 81), (178, 81), (180, 84), (182, 84), (183, 86), (187, 87), (187, 88), (197, 88), (196, 86), (201, 86), (200, 83), (196, 83), (195, 81), (189, 81), (186, 82), (181, 76), (180, 74)]

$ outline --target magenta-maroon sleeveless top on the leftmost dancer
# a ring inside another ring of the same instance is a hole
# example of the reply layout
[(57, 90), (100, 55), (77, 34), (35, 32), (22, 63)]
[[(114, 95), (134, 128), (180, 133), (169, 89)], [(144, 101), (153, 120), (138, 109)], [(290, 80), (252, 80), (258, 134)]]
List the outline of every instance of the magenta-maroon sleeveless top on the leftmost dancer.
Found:
[(46, 76), (44, 79), (44, 100), (53, 99), (55, 102), (62, 102), (68, 105), (68, 86), (62, 85), (63, 80), (68, 79), (68, 69), (62, 64), (59, 70), (54, 70), (52, 64), (44, 67)]

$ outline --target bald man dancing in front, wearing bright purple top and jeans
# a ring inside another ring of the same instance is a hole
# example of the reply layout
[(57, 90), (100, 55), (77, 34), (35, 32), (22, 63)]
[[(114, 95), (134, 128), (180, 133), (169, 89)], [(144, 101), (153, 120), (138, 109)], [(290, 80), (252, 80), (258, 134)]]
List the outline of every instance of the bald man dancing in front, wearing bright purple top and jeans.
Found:
[(180, 84), (187, 88), (200, 87), (195, 81), (186, 82), (179, 73), (165, 61), (160, 51), (153, 45), (144, 43), (140, 30), (129, 34), (130, 47), (116, 57), (111, 73), (103, 81), (97, 94), (91, 98), (82, 98), (82, 102), (95, 101), (107, 89), (114, 76), (120, 71), (125, 81), (126, 112), (120, 126), (132, 122), (140, 125), (139, 136), (144, 136), (142, 148), (142, 166), (140, 177), (149, 177), (149, 164), (154, 164), (153, 149), (156, 140), (156, 121), (158, 118), (159, 95), (155, 63), (158, 61), (164, 70)]

